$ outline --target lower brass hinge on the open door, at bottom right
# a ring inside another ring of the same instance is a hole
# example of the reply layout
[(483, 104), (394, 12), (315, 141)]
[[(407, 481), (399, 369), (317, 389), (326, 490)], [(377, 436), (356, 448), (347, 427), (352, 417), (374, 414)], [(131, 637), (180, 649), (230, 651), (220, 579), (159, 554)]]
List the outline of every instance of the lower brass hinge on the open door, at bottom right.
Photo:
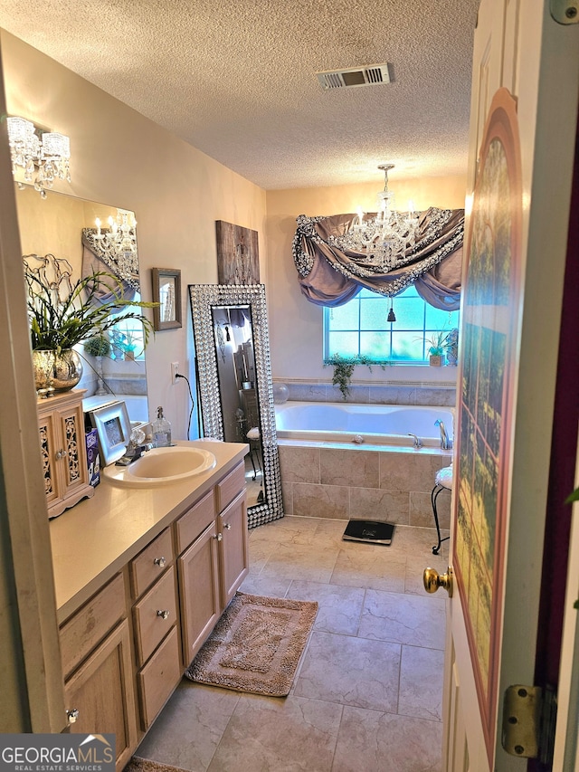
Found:
[(551, 687), (509, 686), (503, 701), (503, 748), (512, 756), (551, 764), (556, 716), (557, 699)]

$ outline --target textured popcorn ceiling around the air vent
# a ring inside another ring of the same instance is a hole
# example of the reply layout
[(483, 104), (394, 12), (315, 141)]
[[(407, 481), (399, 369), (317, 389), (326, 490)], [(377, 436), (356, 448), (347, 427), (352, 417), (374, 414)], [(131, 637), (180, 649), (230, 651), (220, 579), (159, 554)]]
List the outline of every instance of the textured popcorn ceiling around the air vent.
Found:
[[(0, 27), (266, 189), (466, 171), (479, 0), (2, 0)], [(317, 71), (389, 62), (323, 91)]]

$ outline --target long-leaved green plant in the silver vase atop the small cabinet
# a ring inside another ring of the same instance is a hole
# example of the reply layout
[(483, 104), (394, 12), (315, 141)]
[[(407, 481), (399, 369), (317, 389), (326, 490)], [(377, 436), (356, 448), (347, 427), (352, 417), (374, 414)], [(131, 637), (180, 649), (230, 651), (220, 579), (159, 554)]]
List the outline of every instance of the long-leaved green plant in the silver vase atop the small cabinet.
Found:
[[(146, 309), (157, 303), (140, 300), (126, 300), (119, 287), (119, 281), (106, 271), (93, 272), (79, 279), (64, 296), (40, 278), (24, 262), (24, 277), (28, 298), (27, 309), (30, 323), (30, 337), (33, 350), (52, 350), (58, 354), (89, 338), (103, 338), (121, 319), (136, 319), (143, 327), (143, 338), (147, 346), (152, 323), (138, 310), (111, 316), (119, 309)], [(98, 294), (105, 288), (113, 299), (100, 303)]]

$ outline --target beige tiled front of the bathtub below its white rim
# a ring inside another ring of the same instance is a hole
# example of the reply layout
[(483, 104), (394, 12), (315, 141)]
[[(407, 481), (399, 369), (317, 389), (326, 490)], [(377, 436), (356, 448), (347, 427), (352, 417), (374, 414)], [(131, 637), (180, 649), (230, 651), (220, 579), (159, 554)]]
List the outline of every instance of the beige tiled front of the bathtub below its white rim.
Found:
[[(279, 440), (279, 452), (286, 514), (432, 529), (434, 476), (452, 461), (451, 451), (389, 445)], [(437, 506), (441, 528), (448, 529), (450, 491), (441, 493)]]

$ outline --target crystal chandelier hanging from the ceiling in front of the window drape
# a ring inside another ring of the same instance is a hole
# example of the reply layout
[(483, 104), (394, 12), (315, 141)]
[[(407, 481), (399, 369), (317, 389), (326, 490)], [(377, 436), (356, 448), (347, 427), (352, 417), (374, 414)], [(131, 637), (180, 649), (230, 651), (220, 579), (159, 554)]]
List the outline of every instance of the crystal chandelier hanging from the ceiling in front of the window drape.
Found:
[(418, 215), (409, 202), (408, 212), (394, 211), (394, 193), (388, 190), (388, 171), (394, 164), (382, 164), (384, 190), (378, 193), (375, 217), (366, 217), (362, 208), (346, 234), (332, 236), (331, 242), (341, 250), (364, 253), (368, 262), (382, 272), (392, 271), (407, 250), (413, 249), (418, 235)]

